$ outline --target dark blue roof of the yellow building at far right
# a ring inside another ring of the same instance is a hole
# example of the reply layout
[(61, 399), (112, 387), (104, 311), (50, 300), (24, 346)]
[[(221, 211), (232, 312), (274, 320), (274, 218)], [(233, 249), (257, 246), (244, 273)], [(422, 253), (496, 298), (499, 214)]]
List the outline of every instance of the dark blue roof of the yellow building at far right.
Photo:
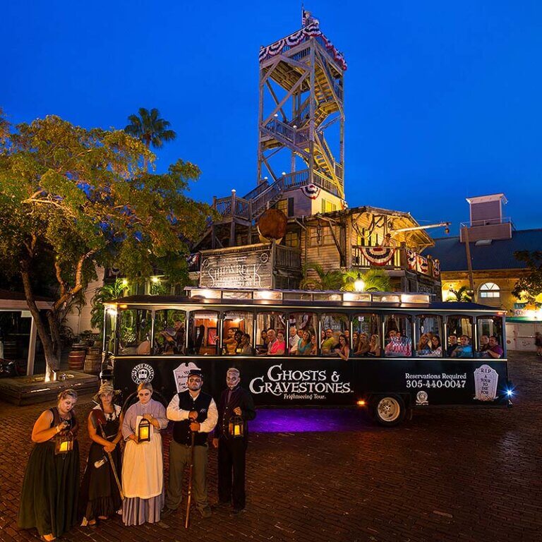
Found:
[[(478, 243), (470, 243), (474, 271), (524, 269), (526, 263), (516, 260), (514, 252), (541, 251), (542, 229), (515, 230), (512, 231), (512, 239)], [(428, 249), (428, 253), (440, 260), (441, 271), (467, 270), (465, 243), (459, 242), (459, 236), (435, 239), (435, 246)]]

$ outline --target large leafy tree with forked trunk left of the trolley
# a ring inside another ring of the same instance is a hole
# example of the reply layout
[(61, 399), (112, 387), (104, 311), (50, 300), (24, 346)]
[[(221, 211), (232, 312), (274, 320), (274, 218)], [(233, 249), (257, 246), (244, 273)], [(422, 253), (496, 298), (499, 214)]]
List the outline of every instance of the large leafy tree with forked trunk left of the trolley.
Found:
[[(95, 265), (119, 267), (128, 279), (155, 267), (173, 282), (188, 279), (188, 240), (211, 212), (185, 195), (200, 170), (179, 159), (151, 174), (142, 159), (155, 157), (126, 132), (87, 130), (58, 116), (20, 124), (0, 142), (0, 266), (20, 276), (48, 374), (59, 366), (59, 323)], [(45, 315), (32, 284), (43, 262), (56, 281)]]

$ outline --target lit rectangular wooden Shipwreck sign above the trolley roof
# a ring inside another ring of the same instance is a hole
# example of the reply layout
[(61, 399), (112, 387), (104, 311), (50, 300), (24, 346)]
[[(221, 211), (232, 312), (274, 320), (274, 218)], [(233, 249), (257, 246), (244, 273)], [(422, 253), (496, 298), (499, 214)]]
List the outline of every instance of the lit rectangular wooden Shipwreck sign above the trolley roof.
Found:
[(200, 287), (272, 288), (271, 246), (202, 251)]

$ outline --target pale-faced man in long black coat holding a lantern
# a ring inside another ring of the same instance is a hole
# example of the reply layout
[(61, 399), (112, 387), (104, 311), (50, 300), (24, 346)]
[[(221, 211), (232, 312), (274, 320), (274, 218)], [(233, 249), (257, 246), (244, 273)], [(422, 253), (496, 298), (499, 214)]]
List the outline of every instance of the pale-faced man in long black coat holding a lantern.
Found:
[[(233, 501), (234, 514), (244, 510), (245, 456), (248, 445), (248, 421), (256, 417), (252, 395), (241, 386), (239, 370), (229, 368), (226, 373), (227, 390), (222, 392), (218, 404), (218, 423), (212, 444), (218, 448), (218, 499), (219, 503)], [(243, 434), (233, 435), (230, 420), (241, 416)]]

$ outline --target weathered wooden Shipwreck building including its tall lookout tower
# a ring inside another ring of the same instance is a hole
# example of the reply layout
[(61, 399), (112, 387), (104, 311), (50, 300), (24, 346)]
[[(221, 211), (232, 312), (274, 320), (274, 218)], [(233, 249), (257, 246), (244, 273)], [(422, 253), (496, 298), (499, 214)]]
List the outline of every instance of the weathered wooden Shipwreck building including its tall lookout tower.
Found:
[[(421, 254), (433, 241), (416, 220), (395, 210), (349, 209), (344, 200), (346, 69), (310, 16), (301, 30), (262, 47), (258, 183), (243, 196), (232, 190), (213, 198), (219, 219), (196, 243), (191, 264), (200, 286), (296, 289), (303, 266), (319, 263), (325, 270), (379, 267), (397, 289), (440, 299), (438, 262)], [(283, 239), (272, 243), (258, 234), (270, 208), (288, 217)]]

